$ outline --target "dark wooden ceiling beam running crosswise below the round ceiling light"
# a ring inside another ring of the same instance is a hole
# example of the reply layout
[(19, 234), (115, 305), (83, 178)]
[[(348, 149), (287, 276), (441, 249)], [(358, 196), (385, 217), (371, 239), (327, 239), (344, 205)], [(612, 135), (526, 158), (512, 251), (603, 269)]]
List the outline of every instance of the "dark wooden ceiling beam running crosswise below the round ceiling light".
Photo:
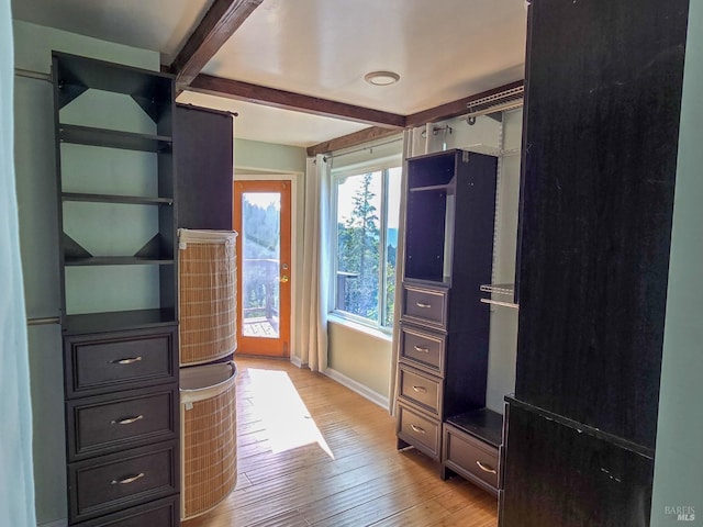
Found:
[(303, 96), (292, 91), (277, 90), (275, 88), (250, 85), (248, 82), (204, 74), (200, 74), (188, 87), (183, 87), (183, 89), (295, 112), (345, 119), (347, 121), (378, 125), (395, 131), (405, 126), (405, 117), (397, 113), (355, 106), (328, 99)]

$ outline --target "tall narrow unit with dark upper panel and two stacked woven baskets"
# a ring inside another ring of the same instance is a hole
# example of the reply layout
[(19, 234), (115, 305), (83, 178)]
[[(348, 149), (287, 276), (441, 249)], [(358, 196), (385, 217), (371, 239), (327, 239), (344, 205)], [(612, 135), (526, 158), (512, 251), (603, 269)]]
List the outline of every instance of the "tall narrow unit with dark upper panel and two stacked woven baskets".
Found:
[(231, 113), (176, 105), (183, 520), (237, 481), (233, 135)]

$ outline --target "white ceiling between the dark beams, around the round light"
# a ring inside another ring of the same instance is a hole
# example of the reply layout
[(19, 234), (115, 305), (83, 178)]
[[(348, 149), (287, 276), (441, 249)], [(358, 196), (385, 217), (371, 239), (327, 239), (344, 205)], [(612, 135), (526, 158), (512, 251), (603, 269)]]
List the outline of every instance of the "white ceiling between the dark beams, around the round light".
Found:
[[(158, 51), (170, 64), (212, 0), (13, 0), (15, 19)], [(264, 0), (203, 72), (402, 115), (523, 77), (524, 0)], [(364, 81), (392, 70), (398, 83)], [(310, 146), (367, 125), (200, 93), (236, 136)]]

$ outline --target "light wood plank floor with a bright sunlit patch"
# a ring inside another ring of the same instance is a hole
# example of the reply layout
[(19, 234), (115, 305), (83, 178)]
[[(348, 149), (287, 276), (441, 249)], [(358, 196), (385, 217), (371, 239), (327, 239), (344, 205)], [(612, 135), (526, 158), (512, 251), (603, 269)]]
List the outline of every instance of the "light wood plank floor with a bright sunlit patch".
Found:
[(183, 527), (495, 527), (494, 497), (395, 449), (384, 408), (288, 361), (236, 363), (237, 487)]

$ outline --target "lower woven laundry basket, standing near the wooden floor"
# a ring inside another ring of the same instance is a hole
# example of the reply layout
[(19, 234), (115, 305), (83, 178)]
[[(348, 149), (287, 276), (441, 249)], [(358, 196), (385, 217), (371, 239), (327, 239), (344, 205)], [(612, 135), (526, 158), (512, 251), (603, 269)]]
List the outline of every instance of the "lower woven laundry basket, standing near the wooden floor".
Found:
[(207, 513), (237, 483), (236, 366), (180, 370), (181, 519)]

